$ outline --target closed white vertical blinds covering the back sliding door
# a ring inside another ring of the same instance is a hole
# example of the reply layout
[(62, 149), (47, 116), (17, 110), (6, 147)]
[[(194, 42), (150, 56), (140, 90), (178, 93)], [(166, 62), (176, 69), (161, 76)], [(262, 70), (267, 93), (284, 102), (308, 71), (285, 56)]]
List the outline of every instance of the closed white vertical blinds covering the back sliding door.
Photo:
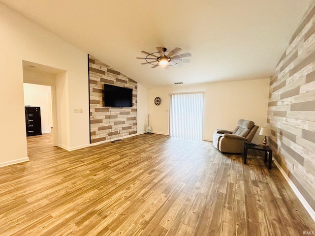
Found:
[(202, 139), (203, 93), (170, 95), (170, 136)]

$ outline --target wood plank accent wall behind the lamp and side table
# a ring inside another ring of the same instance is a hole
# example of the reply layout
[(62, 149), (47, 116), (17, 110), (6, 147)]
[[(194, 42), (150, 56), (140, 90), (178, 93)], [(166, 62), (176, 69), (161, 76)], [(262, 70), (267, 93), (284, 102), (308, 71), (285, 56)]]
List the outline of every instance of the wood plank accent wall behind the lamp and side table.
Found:
[(269, 145), (315, 210), (315, 7), (293, 34), (270, 80)]

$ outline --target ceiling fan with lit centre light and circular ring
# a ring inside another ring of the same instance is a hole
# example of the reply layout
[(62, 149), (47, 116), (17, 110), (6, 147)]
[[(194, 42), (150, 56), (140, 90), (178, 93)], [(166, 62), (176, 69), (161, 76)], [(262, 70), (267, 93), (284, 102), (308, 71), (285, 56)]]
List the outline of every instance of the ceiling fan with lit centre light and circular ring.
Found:
[(137, 58), (137, 59), (145, 59), (146, 62), (141, 64), (151, 64), (152, 68), (157, 66), (172, 66), (183, 62), (189, 62), (189, 59), (183, 59), (184, 57), (190, 57), (190, 53), (179, 54), (181, 48), (174, 48), (172, 51), (167, 51), (166, 48), (157, 47), (158, 52), (148, 53), (146, 51), (141, 51), (142, 53), (147, 54), (145, 58)]

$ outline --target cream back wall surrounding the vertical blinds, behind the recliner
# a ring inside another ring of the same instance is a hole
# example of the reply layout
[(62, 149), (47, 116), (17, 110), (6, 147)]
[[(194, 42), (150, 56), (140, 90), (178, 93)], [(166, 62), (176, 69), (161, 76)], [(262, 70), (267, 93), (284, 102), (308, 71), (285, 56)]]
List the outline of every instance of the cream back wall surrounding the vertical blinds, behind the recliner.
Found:
[[(148, 90), (148, 113), (154, 133), (169, 134), (169, 94), (204, 92), (203, 140), (212, 141), (217, 128), (233, 130), (239, 119), (250, 119), (259, 127), (266, 126), (269, 79), (206, 83)], [(154, 98), (160, 97), (156, 106)], [(259, 131), (259, 129), (258, 129)], [(253, 142), (260, 142), (259, 132)]]

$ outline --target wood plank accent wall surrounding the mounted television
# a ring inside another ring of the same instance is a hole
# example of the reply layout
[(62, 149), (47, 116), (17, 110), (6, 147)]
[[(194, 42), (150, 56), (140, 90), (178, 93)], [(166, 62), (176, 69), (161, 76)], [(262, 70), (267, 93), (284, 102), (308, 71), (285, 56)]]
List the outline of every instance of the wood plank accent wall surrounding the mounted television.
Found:
[[(137, 133), (137, 82), (89, 55), (91, 143)], [(104, 84), (132, 90), (132, 108), (104, 107)], [(118, 132), (120, 130), (120, 133)]]

